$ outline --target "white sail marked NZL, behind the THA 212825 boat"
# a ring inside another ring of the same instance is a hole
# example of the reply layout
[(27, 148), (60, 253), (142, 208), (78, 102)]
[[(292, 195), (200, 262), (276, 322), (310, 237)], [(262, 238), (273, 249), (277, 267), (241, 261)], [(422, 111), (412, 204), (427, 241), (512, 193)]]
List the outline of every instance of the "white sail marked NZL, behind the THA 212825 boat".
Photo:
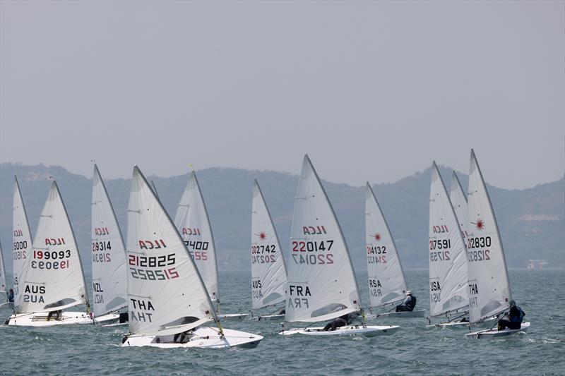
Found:
[(94, 315), (100, 317), (127, 307), (124, 239), (96, 164), (93, 175), (92, 261)]

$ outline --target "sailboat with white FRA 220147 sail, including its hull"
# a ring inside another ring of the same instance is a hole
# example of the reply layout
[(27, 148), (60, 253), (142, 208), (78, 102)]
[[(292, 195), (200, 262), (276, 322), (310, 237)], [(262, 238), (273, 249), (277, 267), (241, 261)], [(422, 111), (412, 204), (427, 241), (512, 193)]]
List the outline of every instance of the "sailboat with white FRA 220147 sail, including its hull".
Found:
[(286, 265), (285, 322), (313, 325), (355, 313), (361, 314), (362, 321), (331, 331), (305, 327), (285, 329), (280, 334), (376, 336), (393, 334), (398, 329), (398, 326), (366, 325), (345, 238), (308, 155), (304, 156), (296, 190)]

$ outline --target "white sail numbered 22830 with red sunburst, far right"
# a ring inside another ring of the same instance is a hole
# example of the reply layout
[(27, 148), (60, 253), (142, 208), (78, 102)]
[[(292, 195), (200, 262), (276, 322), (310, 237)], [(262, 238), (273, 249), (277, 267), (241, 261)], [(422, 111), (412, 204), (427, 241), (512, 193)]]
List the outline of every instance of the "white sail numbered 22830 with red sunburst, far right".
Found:
[(512, 298), (506, 259), (487, 187), (471, 150), (468, 190), (468, 278), (470, 322), (509, 308)]

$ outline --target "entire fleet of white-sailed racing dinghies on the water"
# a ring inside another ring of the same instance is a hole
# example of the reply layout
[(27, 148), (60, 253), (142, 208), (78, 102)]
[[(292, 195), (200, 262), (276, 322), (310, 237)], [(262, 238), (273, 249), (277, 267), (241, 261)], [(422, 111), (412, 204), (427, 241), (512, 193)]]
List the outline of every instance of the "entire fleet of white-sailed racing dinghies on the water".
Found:
[[(134, 167), (126, 243), (96, 164), (92, 195), (93, 311), (81, 255), (55, 181), (32, 238), (18, 179), (13, 194), (13, 279), (0, 248), (0, 306), (13, 296), (10, 326), (116, 322), (129, 325), (122, 346), (228, 348), (257, 346), (263, 336), (225, 329), (220, 313), (214, 238), (194, 171), (172, 221), (153, 181)], [(391, 312), (408, 291), (398, 250), (367, 183), (365, 236), (369, 310), (376, 317), (423, 317), (425, 310)], [(468, 193), (453, 171), (448, 192), (436, 163), (429, 193), (429, 326), (482, 325), (510, 308), (504, 249), (475, 152)], [(409, 293), (409, 292), (408, 292)], [(76, 306), (85, 311), (69, 311)], [(390, 309), (388, 307), (391, 307)], [(283, 252), (258, 182), (251, 208), (251, 318), (282, 320), (285, 336), (394, 334), (397, 325), (367, 325), (359, 287), (331, 202), (308, 155), (295, 193), (290, 248)], [(375, 312), (376, 311), (376, 312)], [(340, 321), (341, 320), (341, 321)], [(306, 323), (287, 328), (289, 323)], [(315, 326), (316, 323), (329, 325)], [(339, 323), (336, 324), (336, 323)], [(483, 329), (492, 338), (525, 332)]]

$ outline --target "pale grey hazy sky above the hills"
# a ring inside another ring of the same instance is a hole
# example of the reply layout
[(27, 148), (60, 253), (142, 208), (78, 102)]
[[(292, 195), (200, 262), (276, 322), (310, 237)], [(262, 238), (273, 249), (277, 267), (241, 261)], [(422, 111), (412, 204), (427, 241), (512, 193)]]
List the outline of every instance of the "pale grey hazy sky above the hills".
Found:
[(0, 160), (565, 172), (564, 1), (0, 1)]

